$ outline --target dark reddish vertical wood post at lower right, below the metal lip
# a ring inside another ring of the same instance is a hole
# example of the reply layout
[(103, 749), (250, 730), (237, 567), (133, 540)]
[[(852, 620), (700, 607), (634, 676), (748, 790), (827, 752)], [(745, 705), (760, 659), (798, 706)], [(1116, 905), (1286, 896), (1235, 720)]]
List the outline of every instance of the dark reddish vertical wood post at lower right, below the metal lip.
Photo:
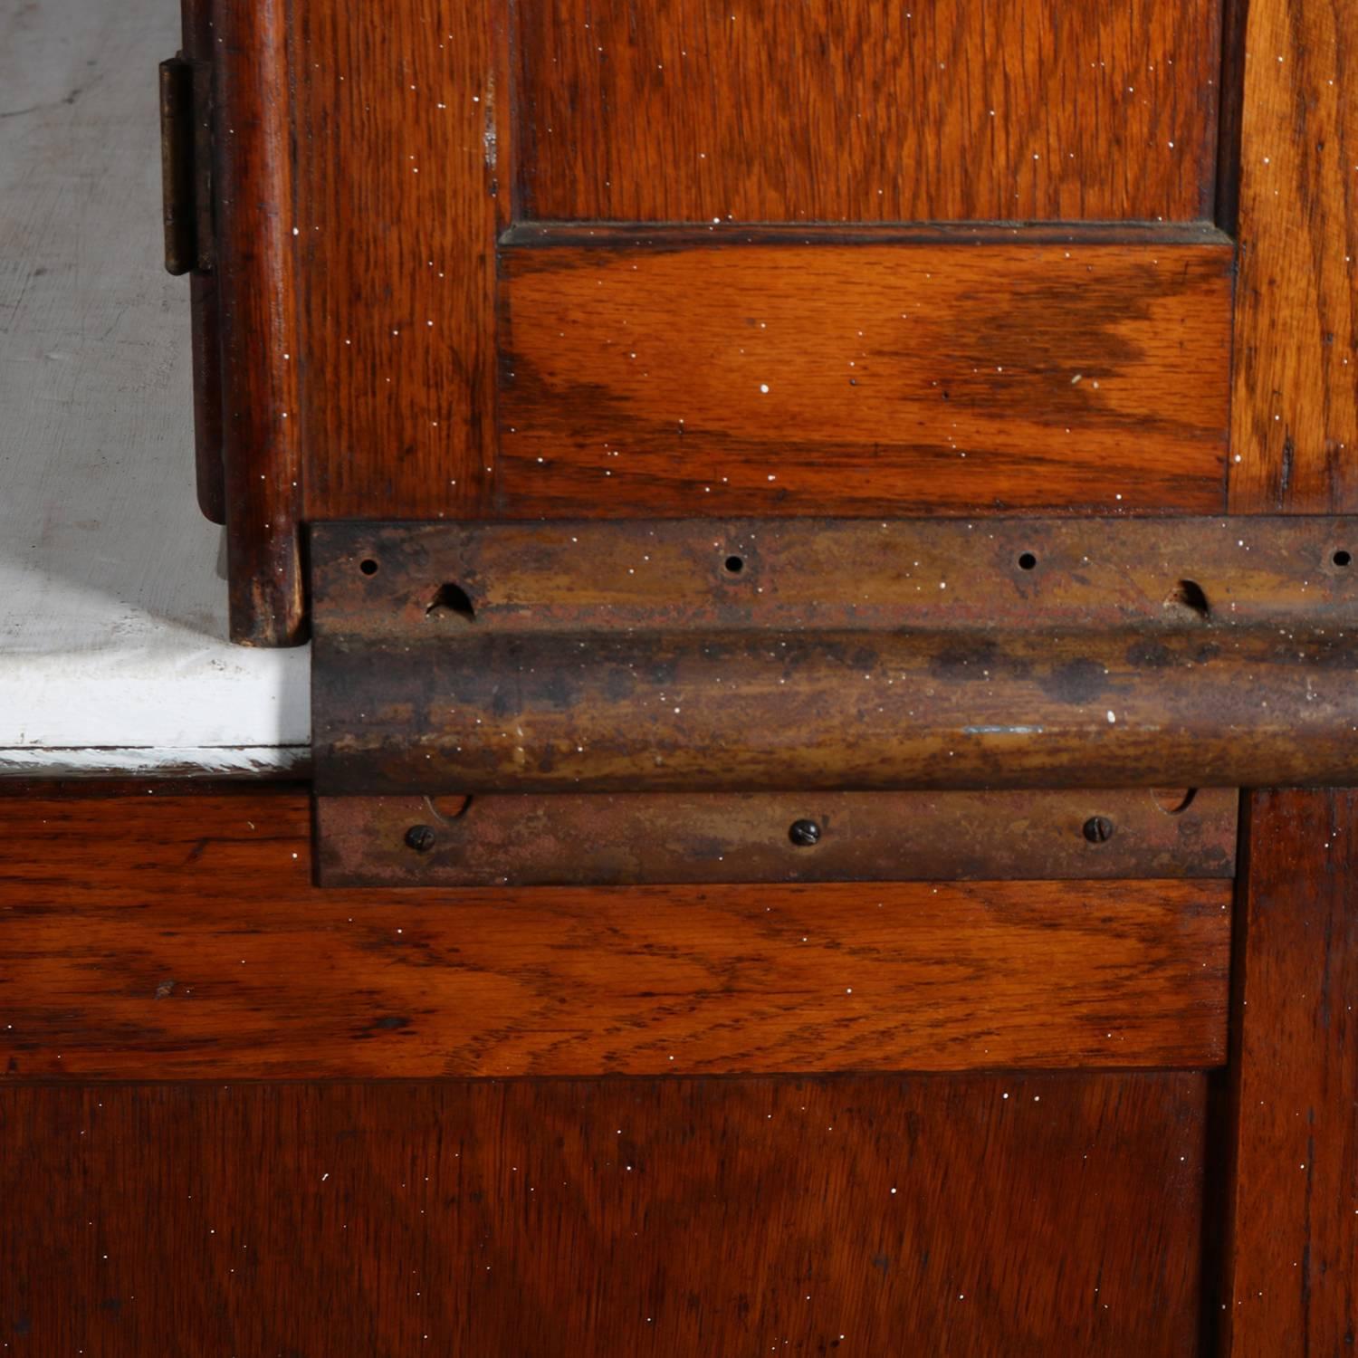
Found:
[(1358, 1332), (1358, 793), (1249, 805), (1237, 960), (1232, 1358)]

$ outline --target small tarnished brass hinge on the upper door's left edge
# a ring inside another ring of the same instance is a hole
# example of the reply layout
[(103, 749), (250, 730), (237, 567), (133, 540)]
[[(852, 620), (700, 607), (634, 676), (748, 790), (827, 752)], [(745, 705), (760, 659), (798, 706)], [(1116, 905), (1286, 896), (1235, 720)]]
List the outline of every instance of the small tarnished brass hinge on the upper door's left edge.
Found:
[(183, 56), (160, 62), (160, 171), (166, 269), (213, 266), (212, 72)]

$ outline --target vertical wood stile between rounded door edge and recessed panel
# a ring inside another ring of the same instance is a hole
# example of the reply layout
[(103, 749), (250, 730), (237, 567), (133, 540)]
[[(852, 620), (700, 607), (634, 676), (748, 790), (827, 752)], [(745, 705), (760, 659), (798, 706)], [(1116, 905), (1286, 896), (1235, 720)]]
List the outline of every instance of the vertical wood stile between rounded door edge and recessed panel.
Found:
[[(296, 5), (310, 519), (467, 517), (496, 448), (507, 7)], [(502, 189), (501, 189), (502, 186)]]

